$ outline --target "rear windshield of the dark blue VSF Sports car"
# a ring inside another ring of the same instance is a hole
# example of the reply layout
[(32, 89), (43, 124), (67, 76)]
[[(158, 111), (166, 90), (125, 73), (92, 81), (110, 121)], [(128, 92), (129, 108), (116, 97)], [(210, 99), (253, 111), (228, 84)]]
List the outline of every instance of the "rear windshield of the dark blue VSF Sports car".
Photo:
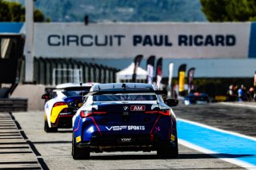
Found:
[(122, 94), (122, 95), (95, 95), (94, 101), (156, 101), (156, 95), (138, 95), (138, 94)]

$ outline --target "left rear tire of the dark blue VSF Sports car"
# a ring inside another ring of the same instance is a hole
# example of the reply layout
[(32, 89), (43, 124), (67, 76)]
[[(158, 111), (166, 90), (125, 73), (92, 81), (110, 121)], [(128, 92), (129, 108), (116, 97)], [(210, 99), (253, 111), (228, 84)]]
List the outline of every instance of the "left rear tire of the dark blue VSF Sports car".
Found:
[(74, 134), (72, 135), (72, 152), (74, 160), (88, 160), (90, 159), (90, 148), (78, 148), (74, 142)]

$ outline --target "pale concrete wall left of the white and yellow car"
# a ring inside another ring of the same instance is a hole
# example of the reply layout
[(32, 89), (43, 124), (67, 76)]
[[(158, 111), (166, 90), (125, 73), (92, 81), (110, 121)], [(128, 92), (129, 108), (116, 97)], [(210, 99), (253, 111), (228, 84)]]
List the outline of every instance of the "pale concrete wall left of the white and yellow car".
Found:
[(44, 110), (45, 101), (41, 99), (45, 93), (45, 85), (18, 85), (11, 95), (12, 98), (27, 98), (28, 110)]

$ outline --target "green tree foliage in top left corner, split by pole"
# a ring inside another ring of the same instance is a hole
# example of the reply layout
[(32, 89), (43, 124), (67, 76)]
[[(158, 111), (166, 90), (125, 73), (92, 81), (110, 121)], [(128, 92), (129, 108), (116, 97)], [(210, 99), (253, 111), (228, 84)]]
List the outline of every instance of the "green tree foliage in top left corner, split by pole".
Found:
[[(0, 22), (25, 22), (25, 7), (18, 2), (0, 0)], [(40, 10), (34, 10), (34, 22), (45, 22)], [(50, 22), (50, 18), (46, 22)]]

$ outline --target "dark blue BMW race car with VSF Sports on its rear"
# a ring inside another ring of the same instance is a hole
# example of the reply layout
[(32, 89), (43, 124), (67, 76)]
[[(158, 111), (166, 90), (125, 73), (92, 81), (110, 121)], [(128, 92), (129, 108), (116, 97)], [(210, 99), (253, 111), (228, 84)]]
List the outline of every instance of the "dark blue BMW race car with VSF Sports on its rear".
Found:
[(90, 152), (157, 151), (178, 157), (178, 132), (172, 106), (163, 92), (143, 83), (93, 85), (73, 117), (72, 156), (89, 159)]

